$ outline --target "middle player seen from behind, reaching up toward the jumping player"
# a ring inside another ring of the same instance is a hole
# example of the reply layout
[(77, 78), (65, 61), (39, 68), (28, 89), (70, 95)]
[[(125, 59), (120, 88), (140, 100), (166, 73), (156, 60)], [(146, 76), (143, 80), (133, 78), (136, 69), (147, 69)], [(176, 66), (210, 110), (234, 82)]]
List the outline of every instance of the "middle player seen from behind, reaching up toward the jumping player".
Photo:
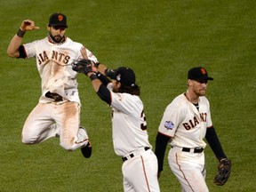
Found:
[[(86, 60), (85, 60), (86, 61)], [(81, 60), (83, 66), (84, 61)], [(89, 65), (90, 66), (90, 65)], [(112, 108), (112, 135), (114, 150), (122, 156), (124, 191), (160, 191), (157, 180), (157, 159), (148, 142), (147, 122), (144, 106), (140, 100), (140, 87), (135, 84), (135, 74), (131, 68), (120, 67), (112, 73), (113, 82), (94, 68), (74, 70), (84, 73), (92, 80), (92, 85)], [(100, 64), (103, 73), (108, 70)]]

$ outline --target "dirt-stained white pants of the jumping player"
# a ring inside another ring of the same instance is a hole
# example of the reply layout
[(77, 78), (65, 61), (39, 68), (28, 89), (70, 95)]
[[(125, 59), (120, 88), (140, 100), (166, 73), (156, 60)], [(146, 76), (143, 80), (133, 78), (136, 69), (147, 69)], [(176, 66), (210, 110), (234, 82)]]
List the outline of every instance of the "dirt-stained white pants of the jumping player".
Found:
[(80, 105), (77, 102), (38, 103), (23, 126), (22, 142), (36, 144), (60, 136), (62, 148), (75, 150), (88, 143), (88, 135), (79, 125)]

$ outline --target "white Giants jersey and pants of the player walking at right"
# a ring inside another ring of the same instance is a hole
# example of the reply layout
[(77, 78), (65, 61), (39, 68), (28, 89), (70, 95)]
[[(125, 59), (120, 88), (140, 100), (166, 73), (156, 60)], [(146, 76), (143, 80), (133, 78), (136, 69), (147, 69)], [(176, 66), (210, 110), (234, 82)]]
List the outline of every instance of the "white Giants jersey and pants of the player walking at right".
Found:
[[(206, 129), (212, 126), (209, 101), (199, 97), (198, 107), (184, 93), (180, 94), (165, 108), (158, 128), (159, 132), (172, 137), (168, 163), (182, 191), (209, 191), (205, 183), (204, 151), (194, 153), (194, 148), (205, 148)], [(183, 148), (190, 150), (186, 152)]]

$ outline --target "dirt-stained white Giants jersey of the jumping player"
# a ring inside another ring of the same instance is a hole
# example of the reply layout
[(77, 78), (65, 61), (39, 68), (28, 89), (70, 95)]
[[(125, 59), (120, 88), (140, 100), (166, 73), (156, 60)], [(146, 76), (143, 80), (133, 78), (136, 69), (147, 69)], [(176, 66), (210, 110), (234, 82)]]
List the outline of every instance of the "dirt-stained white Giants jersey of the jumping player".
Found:
[[(46, 92), (58, 93), (64, 100), (76, 101), (78, 96), (76, 71), (72, 70), (71, 63), (82, 59), (83, 44), (76, 43), (67, 37), (63, 44), (52, 44), (48, 37), (32, 43), (23, 44), (28, 58), (36, 57), (36, 66), (42, 78), (41, 103), (51, 102), (45, 97)], [(87, 51), (88, 59), (98, 62), (97, 58)]]

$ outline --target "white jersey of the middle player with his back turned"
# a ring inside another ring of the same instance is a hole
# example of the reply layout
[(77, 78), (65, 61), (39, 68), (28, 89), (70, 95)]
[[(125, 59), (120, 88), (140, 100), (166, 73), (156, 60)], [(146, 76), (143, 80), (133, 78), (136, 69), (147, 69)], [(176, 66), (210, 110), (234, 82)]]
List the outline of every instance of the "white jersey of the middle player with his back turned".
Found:
[[(112, 84), (108, 89), (112, 90)], [(144, 106), (139, 96), (111, 92), (113, 143), (117, 156), (127, 156), (132, 151), (149, 147)]]

